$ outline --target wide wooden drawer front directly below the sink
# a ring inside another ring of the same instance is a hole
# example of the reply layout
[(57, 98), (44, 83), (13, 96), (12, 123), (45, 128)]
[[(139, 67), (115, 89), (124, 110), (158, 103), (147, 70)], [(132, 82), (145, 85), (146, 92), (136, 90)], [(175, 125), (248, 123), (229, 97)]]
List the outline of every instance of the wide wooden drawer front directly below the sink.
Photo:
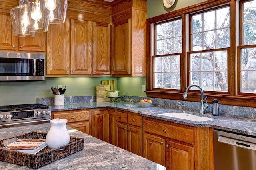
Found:
[(194, 128), (191, 126), (145, 118), (143, 127), (146, 132), (194, 144)]

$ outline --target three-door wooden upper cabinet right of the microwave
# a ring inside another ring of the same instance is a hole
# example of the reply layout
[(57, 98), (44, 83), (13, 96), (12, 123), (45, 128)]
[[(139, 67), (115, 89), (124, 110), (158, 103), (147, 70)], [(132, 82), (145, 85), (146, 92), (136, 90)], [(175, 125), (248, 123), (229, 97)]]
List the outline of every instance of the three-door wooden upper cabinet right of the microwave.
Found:
[(110, 24), (66, 18), (47, 32), (46, 76), (110, 74)]

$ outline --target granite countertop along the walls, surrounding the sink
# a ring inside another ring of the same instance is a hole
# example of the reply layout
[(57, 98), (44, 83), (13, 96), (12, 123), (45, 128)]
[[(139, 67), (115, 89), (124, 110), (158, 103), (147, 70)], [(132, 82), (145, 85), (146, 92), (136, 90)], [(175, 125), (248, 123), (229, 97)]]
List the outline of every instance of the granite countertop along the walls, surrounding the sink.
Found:
[[(81, 102), (81, 103), (72, 103), (65, 104), (63, 106), (54, 106), (49, 105), (51, 111), (64, 111), (64, 110), (76, 110), (76, 109), (90, 109), (90, 108), (101, 108), (108, 107), (113, 109), (120, 109), (124, 111), (130, 111), (132, 113), (138, 113), (144, 117), (151, 117), (155, 119), (160, 119), (164, 121), (170, 121), (174, 123), (180, 123), (184, 125), (190, 125), (194, 127), (212, 127), (216, 129), (222, 129), (226, 131), (232, 131), (236, 133), (242, 133), (246, 135), (256, 136), (256, 121), (254, 119), (242, 119), (242, 118), (232, 118), (225, 116), (212, 116), (211, 114), (201, 115), (200, 113), (191, 113), (185, 111), (177, 111), (175, 109), (165, 108), (165, 107), (157, 107), (151, 106), (147, 108), (140, 107), (139, 104), (130, 103), (130, 102)], [(198, 116), (211, 117), (216, 120), (210, 121), (188, 121), (184, 119), (165, 117), (162, 115), (158, 115), (160, 113), (168, 113), (168, 112), (184, 112), (189, 114), (194, 114)]]

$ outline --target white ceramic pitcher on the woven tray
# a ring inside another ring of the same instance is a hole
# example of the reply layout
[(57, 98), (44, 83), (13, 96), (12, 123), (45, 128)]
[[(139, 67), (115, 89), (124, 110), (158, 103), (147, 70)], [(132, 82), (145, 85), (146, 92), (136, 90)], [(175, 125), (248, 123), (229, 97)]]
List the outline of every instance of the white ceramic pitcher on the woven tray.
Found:
[(67, 119), (58, 118), (50, 120), (51, 128), (46, 135), (46, 143), (51, 149), (58, 148), (69, 143), (70, 135), (66, 127), (67, 121)]

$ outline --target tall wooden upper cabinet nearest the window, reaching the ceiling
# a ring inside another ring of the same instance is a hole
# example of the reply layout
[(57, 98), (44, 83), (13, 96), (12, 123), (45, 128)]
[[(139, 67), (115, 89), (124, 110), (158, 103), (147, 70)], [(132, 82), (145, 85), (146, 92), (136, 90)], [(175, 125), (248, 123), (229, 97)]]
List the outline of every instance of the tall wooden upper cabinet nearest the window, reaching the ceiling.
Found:
[(146, 0), (113, 1), (113, 76), (146, 76)]

